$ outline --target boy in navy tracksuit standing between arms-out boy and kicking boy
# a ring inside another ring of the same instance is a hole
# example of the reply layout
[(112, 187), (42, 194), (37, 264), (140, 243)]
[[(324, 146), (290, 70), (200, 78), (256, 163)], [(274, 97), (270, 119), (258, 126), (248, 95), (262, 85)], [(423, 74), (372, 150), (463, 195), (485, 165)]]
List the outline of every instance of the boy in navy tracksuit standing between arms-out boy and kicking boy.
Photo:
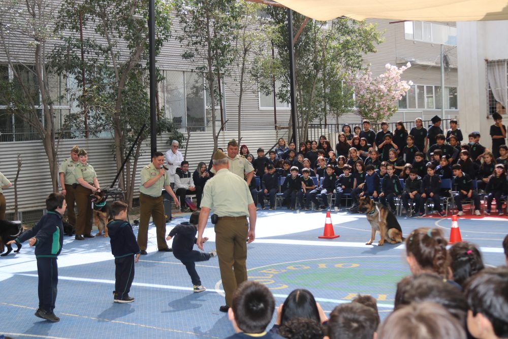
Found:
[(134, 280), (134, 263), (138, 262), (141, 251), (127, 221), (127, 204), (114, 201), (111, 204), (113, 220), (108, 223), (108, 233), (111, 243), (111, 253), (115, 256), (115, 290), (113, 301), (133, 302), (129, 296)]

